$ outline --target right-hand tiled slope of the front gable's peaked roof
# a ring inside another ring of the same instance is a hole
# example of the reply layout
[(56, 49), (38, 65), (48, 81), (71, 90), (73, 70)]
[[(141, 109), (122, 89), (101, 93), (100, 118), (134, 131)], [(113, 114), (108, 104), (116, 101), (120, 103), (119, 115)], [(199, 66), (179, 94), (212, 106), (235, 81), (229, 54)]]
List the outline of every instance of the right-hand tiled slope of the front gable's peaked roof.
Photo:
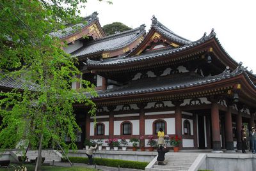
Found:
[(189, 45), (192, 43), (192, 41), (187, 40), (186, 38), (182, 38), (181, 36), (173, 33), (173, 31), (171, 31), (170, 29), (165, 27), (163, 24), (161, 24), (161, 22), (159, 22), (154, 15), (152, 18), (151, 27), (153, 27), (154, 29), (156, 29), (156, 31), (166, 36), (166, 38), (169, 38), (170, 40), (173, 40), (177, 43), (181, 43), (182, 45)]

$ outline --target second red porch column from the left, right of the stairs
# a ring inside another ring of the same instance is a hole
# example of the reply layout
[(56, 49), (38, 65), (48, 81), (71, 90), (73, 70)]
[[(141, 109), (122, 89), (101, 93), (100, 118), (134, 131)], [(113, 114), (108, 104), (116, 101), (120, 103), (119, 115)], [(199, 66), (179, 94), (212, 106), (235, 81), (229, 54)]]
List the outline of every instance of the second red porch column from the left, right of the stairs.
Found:
[(231, 114), (230, 105), (228, 105), (228, 110), (225, 114), (225, 140), (226, 140), (226, 149), (230, 151), (234, 151), (232, 114)]

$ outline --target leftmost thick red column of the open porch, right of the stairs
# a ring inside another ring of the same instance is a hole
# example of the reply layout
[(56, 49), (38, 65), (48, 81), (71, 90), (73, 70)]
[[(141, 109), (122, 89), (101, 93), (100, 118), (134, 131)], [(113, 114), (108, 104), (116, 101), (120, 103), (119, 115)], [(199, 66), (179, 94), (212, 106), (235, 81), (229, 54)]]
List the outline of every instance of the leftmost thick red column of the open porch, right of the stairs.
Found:
[(220, 117), (219, 117), (219, 107), (216, 101), (212, 101), (211, 119), (212, 119), (212, 150), (221, 151)]

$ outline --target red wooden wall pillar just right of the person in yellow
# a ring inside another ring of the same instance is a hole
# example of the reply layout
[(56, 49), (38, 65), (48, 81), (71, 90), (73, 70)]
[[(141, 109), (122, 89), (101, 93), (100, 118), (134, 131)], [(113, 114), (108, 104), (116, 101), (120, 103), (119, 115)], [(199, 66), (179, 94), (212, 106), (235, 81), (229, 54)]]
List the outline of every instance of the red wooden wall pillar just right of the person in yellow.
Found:
[(175, 105), (175, 135), (181, 138), (181, 143), (179, 144), (179, 148), (182, 149), (182, 114), (180, 104), (182, 101), (173, 101)]

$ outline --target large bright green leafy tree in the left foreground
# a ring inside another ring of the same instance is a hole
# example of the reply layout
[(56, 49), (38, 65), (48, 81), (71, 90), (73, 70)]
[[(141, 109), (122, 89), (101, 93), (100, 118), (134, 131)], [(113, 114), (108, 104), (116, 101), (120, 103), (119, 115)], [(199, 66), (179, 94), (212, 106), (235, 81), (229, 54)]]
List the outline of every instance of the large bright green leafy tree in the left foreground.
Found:
[[(93, 85), (76, 77), (81, 74), (77, 59), (61, 50), (61, 41), (49, 34), (81, 22), (83, 3), (86, 0), (0, 0), (0, 79), (12, 77), (22, 84), (0, 93), (0, 147), (13, 148), (29, 140), (38, 148), (35, 170), (40, 170), (42, 147), (51, 142), (76, 149), (80, 128), (72, 104), (83, 103), (88, 114), (95, 114), (90, 100), (97, 96)], [(75, 81), (85, 88), (70, 89)], [(72, 143), (65, 144), (65, 137)]]

